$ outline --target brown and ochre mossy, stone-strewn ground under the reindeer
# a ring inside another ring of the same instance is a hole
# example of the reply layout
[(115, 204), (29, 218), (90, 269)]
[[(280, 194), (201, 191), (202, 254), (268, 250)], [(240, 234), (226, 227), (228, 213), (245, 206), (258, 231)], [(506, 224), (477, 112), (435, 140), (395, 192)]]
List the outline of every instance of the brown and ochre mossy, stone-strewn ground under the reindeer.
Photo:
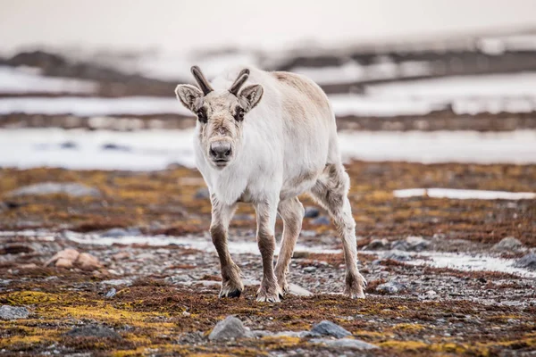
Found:
[[(339, 238), (326, 212), (304, 197), (289, 275), (297, 295), (278, 304), (255, 302), (261, 262), (247, 206), (230, 235), (246, 290), (239, 299), (217, 298), (210, 203), (195, 170), (0, 170), (0, 353), (534, 355), (534, 200), (397, 198), (392, 191), (535, 192), (536, 167), (347, 167), (366, 299), (338, 294)], [(277, 231), (279, 239), (281, 222)], [(440, 254), (515, 268), (440, 267)]]

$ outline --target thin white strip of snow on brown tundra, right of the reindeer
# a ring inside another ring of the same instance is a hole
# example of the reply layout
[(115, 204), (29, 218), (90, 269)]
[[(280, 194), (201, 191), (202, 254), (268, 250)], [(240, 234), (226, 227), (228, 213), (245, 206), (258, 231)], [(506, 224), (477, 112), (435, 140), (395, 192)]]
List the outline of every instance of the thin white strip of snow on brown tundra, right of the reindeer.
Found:
[(506, 192), (506, 191), (484, 191), (465, 190), (454, 188), (409, 188), (393, 191), (395, 197), (433, 197), (452, 198), (457, 200), (529, 200), (536, 198), (532, 192)]

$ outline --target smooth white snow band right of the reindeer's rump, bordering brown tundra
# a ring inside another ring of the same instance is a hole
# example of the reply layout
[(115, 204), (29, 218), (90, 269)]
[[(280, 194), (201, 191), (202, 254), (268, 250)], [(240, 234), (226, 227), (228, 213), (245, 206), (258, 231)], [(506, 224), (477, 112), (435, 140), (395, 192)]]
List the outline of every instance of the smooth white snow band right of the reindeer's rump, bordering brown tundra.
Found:
[(343, 131), (343, 158), (364, 161), (536, 163), (536, 131)]

